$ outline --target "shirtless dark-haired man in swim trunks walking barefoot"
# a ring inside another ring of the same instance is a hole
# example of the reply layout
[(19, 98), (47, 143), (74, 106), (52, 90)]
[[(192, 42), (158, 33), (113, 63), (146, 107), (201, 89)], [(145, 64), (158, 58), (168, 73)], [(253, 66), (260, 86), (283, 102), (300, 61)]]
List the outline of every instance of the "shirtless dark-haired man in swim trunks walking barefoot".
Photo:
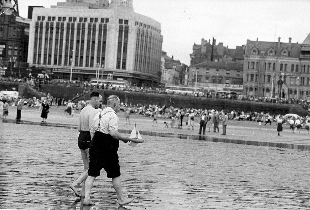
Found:
[[(77, 181), (70, 185), (76, 196), (85, 197), (85, 180), (87, 178), (87, 170), (89, 167), (89, 147), (91, 145), (91, 123), (94, 116), (101, 111), (99, 107), (102, 105), (102, 95), (98, 92), (92, 92), (90, 95), (89, 103), (80, 112), (80, 121), (78, 124), (78, 131), (80, 135), (78, 137), (78, 147), (81, 150), (82, 160), (84, 163), (84, 171), (80, 175)], [(78, 186), (82, 183), (81, 195), (78, 194)]]

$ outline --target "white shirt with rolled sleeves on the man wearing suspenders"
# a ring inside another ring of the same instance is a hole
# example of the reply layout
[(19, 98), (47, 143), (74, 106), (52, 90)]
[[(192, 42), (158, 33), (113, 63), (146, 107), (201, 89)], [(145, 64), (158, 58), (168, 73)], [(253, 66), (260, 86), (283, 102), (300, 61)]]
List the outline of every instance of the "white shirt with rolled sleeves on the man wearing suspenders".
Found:
[[(100, 113), (101, 113), (101, 119), (100, 119)], [(99, 121), (100, 126), (98, 129)], [(111, 107), (107, 107), (103, 111), (98, 112), (95, 115), (94, 120), (91, 123), (90, 132), (95, 133), (98, 130), (101, 133), (109, 134), (110, 130), (118, 130), (118, 122), (119, 119), (118, 116), (116, 115), (116, 112)]]

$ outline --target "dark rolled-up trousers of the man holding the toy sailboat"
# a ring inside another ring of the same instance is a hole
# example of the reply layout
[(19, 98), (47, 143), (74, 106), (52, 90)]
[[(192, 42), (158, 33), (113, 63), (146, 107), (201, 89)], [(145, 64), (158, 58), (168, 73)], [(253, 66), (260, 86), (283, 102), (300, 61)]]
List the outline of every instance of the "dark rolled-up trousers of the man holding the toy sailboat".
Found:
[(108, 178), (119, 177), (121, 175), (117, 150), (119, 141), (110, 134), (95, 132), (89, 148), (89, 168), (88, 176), (100, 176), (100, 170), (104, 168)]

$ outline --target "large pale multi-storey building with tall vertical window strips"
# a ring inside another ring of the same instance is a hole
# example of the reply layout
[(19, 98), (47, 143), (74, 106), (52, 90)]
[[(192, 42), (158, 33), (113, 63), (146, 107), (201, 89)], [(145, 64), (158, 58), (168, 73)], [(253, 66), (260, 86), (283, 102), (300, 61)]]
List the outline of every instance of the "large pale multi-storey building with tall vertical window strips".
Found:
[(67, 0), (34, 8), (28, 63), (54, 78), (100, 77), (140, 85), (156, 83), (162, 52), (161, 24), (134, 12), (132, 0)]

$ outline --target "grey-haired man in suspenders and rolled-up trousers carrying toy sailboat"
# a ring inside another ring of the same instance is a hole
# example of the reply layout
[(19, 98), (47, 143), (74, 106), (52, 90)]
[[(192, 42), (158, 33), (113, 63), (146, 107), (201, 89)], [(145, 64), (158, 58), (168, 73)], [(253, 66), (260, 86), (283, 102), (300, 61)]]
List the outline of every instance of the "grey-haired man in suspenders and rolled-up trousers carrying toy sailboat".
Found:
[(108, 178), (112, 178), (112, 184), (116, 191), (120, 206), (131, 203), (134, 198), (126, 199), (122, 193), (121, 172), (118, 163), (117, 150), (119, 141), (129, 142), (130, 138), (118, 132), (117, 112), (120, 108), (118, 96), (110, 95), (107, 99), (107, 108), (96, 114), (91, 124), (91, 145), (89, 148), (88, 177), (85, 182), (85, 199), (83, 205), (94, 205), (90, 198), (91, 188), (95, 178), (100, 176), (100, 170), (104, 168)]

